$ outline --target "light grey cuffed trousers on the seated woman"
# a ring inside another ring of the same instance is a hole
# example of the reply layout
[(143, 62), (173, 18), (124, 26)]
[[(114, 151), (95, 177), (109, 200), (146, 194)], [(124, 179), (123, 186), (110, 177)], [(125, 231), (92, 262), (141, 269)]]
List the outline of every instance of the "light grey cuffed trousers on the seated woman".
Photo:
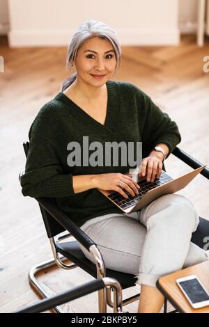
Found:
[(192, 202), (168, 194), (132, 214), (92, 218), (81, 229), (97, 244), (106, 268), (132, 273), (137, 283), (155, 286), (160, 276), (208, 260), (206, 251), (190, 242), (198, 224)]

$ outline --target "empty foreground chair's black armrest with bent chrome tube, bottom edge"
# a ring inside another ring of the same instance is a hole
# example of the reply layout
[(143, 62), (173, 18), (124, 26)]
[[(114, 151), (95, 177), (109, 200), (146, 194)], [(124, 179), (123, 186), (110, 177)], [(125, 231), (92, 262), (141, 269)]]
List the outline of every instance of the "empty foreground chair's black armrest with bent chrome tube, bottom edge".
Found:
[(121, 285), (114, 278), (98, 278), (91, 280), (91, 282), (86, 282), (83, 285), (74, 287), (66, 292), (52, 296), (50, 298), (45, 298), (32, 305), (27, 305), (24, 308), (20, 308), (13, 313), (38, 313), (44, 312), (46, 310), (56, 308), (57, 305), (61, 305), (66, 302), (80, 298), (81, 296), (93, 293), (99, 289), (104, 289), (104, 287), (111, 287), (114, 289), (114, 312), (123, 313), (122, 311), (122, 289)]

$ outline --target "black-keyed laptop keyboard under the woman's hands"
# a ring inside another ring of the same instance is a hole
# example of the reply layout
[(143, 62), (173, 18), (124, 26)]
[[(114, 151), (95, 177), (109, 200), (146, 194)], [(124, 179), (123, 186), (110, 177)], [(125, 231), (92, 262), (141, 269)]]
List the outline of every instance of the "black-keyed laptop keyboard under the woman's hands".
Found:
[(131, 196), (130, 193), (128, 193), (125, 189), (123, 189), (123, 191), (129, 197), (128, 199), (123, 198), (123, 196), (121, 196), (121, 194), (116, 191), (109, 194), (108, 198), (113, 200), (116, 203), (116, 205), (121, 207), (123, 210), (128, 209), (133, 205), (136, 205), (137, 202), (139, 202), (139, 200), (141, 200), (141, 198), (143, 198), (144, 195), (149, 190), (155, 189), (155, 187), (160, 186), (171, 180), (173, 180), (173, 178), (171, 178), (171, 176), (169, 176), (167, 173), (164, 172), (164, 170), (162, 170), (160, 178), (156, 178), (153, 183), (147, 182), (146, 180), (142, 180), (141, 182), (138, 182), (140, 189), (138, 190), (139, 194), (137, 194), (136, 196)]

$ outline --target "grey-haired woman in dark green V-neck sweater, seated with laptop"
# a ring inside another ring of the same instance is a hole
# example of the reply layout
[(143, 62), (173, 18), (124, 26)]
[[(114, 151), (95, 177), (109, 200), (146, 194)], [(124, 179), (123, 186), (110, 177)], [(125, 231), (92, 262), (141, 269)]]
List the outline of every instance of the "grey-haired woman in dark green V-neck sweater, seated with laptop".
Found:
[[(93, 20), (79, 26), (67, 56), (67, 65), (75, 66), (76, 72), (31, 125), (22, 193), (56, 198), (63, 212), (98, 244), (107, 268), (137, 276), (139, 312), (159, 312), (164, 298), (155, 287), (157, 278), (208, 259), (190, 242), (199, 216), (187, 198), (169, 194), (139, 212), (123, 214), (98, 189), (114, 190), (125, 198), (125, 190), (137, 194), (138, 184), (125, 174), (130, 166), (121, 161), (118, 166), (82, 164), (87, 150), (83, 136), (91, 145), (141, 141), (141, 175), (153, 182), (180, 142), (176, 123), (148, 95), (132, 83), (111, 81), (120, 62), (121, 47), (113, 29)], [(69, 150), (75, 143), (81, 151), (73, 161)]]

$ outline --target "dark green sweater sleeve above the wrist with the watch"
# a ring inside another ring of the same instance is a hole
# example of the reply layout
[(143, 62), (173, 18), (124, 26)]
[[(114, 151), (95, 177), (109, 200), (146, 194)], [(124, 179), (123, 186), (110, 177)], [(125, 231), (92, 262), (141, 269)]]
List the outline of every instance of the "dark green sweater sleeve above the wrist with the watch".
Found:
[(141, 133), (141, 141), (146, 156), (153, 150), (157, 143), (164, 143), (169, 147), (169, 153), (180, 143), (181, 136), (176, 122), (171, 120), (167, 113), (160, 110), (152, 99), (141, 91), (141, 104), (144, 126)]

